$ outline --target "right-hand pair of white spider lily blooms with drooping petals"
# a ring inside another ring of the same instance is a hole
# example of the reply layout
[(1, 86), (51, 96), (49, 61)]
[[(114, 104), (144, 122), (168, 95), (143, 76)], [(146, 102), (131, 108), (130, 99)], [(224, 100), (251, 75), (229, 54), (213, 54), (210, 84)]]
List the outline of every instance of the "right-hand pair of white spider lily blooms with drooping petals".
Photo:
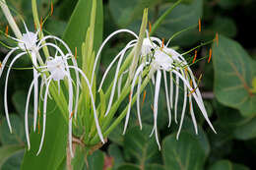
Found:
[[(136, 39), (131, 40), (130, 42), (127, 43), (127, 45), (116, 55), (116, 57), (113, 59), (113, 61), (110, 63), (108, 68), (106, 69), (103, 79), (101, 80), (99, 89), (101, 85), (104, 82), (104, 79), (109, 72), (109, 70), (112, 68), (113, 64), (118, 60), (116, 72), (115, 72), (115, 77), (114, 77), (114, 82), (112, 85), (112, 92), (111, 92), (111, 97), (109, 99), (109, 104), (108, 107), (111, 106), (112, 98), (115, 92), (117, 80), (118, 80), (118, 75), (120, 71), (120, 65), (123, 61), (123, 57), (125, 56), (125, 53), (128, 52), (128, 49), (131, 47), (134, 47), (137, 45), (138, 42), (138, 36), (136, 33), (129, 29), (120, 29), (116, 30), (115, 32), (111, 33), (105, 41), (102, 43), (98, 55), (102, 49), (102, 47), (105, 45), (105, 43), (115, 34), (120, 33), (120, 32), (128, 32), (132, 34), (133, 36), (136, 37)], [(213, 125), (211, 124), (206, 108), (204, 106), (204, 102), (200, 93), (200, 90), (198, 88), (196, 78), (193, 75), (193, 72), (189, 68), (189, 65), (185, 58), (176, 52), (174, 49), (167, 47), (169, 42), (167, 42), (165, 45), (163, 44), (163, 40), (160, 40), (158, 37), (154, 36), (149, 36), (149, 33), (147, 32), (147, 37), (143, 39), (142, 47), (141, 47), (141, 52), (139, 54), (139, 65), (136, 69), (135, 74), (133, 75), (133, 80), (131, 82), (131, 91), (129, 95), (129, 104), (128, 104), (128, 110), (126, 114), (126, 120), (125, 120), (125, 125), (124, 125), (124, 131), (123, 134), (125, 134), (127, 126), (128, 126), (128, 121), (130, 117), (130, 111), (131, 111), (131, 106), (132, 106), (132, 95), (134, 91), (134, 87), (136, 84), (137, 85), (137, 115), (139, 119), (139, 124), (140, 127), (142, 128), (142, 122), (141, 122), (141, 114), (140, 114), (140, 91), (141, 91), (141, 85), (143, 82), (143, 79), (151, 79), (153, 82), (153, 85), (155, 85), (155, 97), (154, 97), (154, 128), (152, 131), (151, 136), (155, 133), (156, 136), (156, 141), (159, 145), (160, 148), (160, 142), (159, 142), (159, 137), (158, 137), (158, 126), (157, 126), (157, 120), (158, 120), (158, 102), (159, 102), (159, 94), (160, 94), (160, 82), (161, 82), (161, 77), (163, 75), (163, 83), (164, 83), (164, 89), (165, 89), (165, 98), (166, 98), (166, 105), (167, 105), (167, 113), (168, 113), (168, 127), (171, 124), (171, 109), (174, 110), (174, 121), (175, 123), (178, 123), (177, 121), (177, 105), (178, 105), (178, 96), (179, 96), (179, 89), (183, 89), (184, 97), (183, 97), (183, 107), (182, 107), (182, 112), (180, 116), (180, 121), (179, 121), (179, 129), (176, 138), (178, 139), (184, 116), (185, 116), (185, 111), (186, 111), (186, 105), (187, 105), (187, 98), (189, 100), (189, 110), (191, 113), (193, 125), (195, 128), (196, 134), (198, 133), (197, 129), (197, 122), (196, 118), (194, 115), (193, 111), (193, 104), (192, 104), (192, 97), (196, 101), (198, 107), (200, 108), (204, 118), (206, 119), (207, 123), (209, 126), (212, 128), (212, 130), (216, 133)], [(137, 56), (135, 56), (137, 57)], [(128, 72), (124, 71), (121, 73), (121, 76), (119, 77), (119, 83), (118, 83), (118, 95), (120, 93), (120, 88), (121, 88), (121, 82), (122, 82), (122, 75), (126, 74)], [(147, 72), (148, 76), (144, 77), (143, 73)], [(167, 76), (169, 76), (169, 85), (167, 83)], [(183, 87), (180, 86), (180, 81), (183, 83)], [(175, 95), (174, 95), (174, 85), (175, 86)], [(106, 111), (105, 115), (107, 115), (109, 110)]]

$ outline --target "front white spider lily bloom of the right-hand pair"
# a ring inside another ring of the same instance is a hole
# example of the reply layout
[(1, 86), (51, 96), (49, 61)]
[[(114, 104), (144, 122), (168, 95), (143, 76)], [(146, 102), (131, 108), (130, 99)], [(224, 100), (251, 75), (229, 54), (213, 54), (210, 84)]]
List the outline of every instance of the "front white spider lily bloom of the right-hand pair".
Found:
[[(147, 39), (148, 38), (148, 39)], [(181, 119), (180, 119), (180, 123), (179, 123), (179, 129), (178, 129), (178, 133), (176, 136), (176, 139), (178, 140), (181, 128), (182, 128), (182, 124), (183, 124), (183, 120), (184, 120), (184, 115), (185, 115), (185, 111), (186, 111), (186, 104), (187, 104), (187, 97), (189, 98), (189, 103), (190, 103), (190, 112), (191, 112), (191, 117), (192, 117), (192, 121), (193, 121), (193, 125), (195, 128), (195, 132), (196, 134), (198, 133), (197, 130), (197, 123), (196, 123), (196, 119), (195, 119), (195, 115), (194, 115), (194, 111), (193, 111), (193, 105), (192, 105), (192, 96), (195, 99), (197, 105), (199, 106), (204, 118), (206, 119), (207, 123), (209, 124), (209, 126), (212, 128), (212, 130), (216, 133), (213, 125), (211, 124), (205, 106), (204, 106), (204, 102), (201, 96), (201, 93), (197, 87), (197, 83), (195, 81), (195, 77), (193, 75), (193, 72), (191, 71), (191, 69), (188, 66), (188, 63), (186, 62), (186, 60), (183, 58), (183, 56), (179, 53), (177, 53), (175, 50), (168, 48), (166, 46), (164, 46), (163, 44), (160, 46), (156, 45), (156, 43), (153, 42), (157, 41), (160, 45), (160, 39), (155, 38), (155, 39), (151, 39), (151, 37), (147, 37), (144, 40), (143, 46), (142, 46), (142, 53), (144, 53), (145, 55), (147, 55), (149, 57), (148, 60), (142, 62), (142, 64), (138, 67), (136, 74), (134, 76), (134, 80), (132, 83), (132, 87), (131, 87), (131, 93), (130, 93), (130, 98), (132, 96), (133, 93), (133, 88), (134, 85), (138, 80), (138, 87), (137, 87), (137, 114), (138, 114), (138, 119), (140, 122), (140, 126), (141, 126), (141, 118), (140, 118), (140, 102), (139, 102), (139, 98), (140, 98), (140, 85), (142, 82), (142, 78), (140, 76), (140, 74), (142, 74), (144, 67), (150, 67), (150, 72), (148, 74), (148, 76), (150, 78), (152, 78), (153, 83), (155, 85), (155, 98), (154, 98), (154, 128), (152, 131), (151, 136), (155, 133), (156, 136), (156, 141), (159, 145), (160, 148), (160, 142), (159, 142), (159, 138), (158, 138), (158, 128), (157, 128), (157, 118), (158, 118), (158, 101), (159, 101), (159, 92), (160, 92), (160, 80), (161, 80), (161, 75), (163, 74), (163, 82), (164, 82), (164, 87), (165, 87), (165, 97), (166, 97), (166, 103), (167, 103), (167, 112), (168, 112), (168, 127), (170, 126), (171, 123), (171, 112), (170, 110), (173, 107), (173, 76), (174, 75), (176, 77), (176, 92), (175, 92), (175, 105), (174, 105), (174, 119), (175, 122), (177, 123), (177, 103), (178, 103), (178, 91), (179, 91), (179, 80), (181, 80), (183, 82), (183, 90), (184, 90), (184, 101), (183, 101), (183, 107), (182, 107), (182, 112), (181, 112)], [(155, 73), (157, 73), (157, 78), (155, 81)], [(162, 73), (162, 74), (161, 74)], [(169, 79), (170, 79), (170, 85), (169, 85), (169, 92), (168, 92), (168, 85), (167, 85), (167, 73), (169, 73)], [(190, 84), (190, 82), (192, 84)], [(129, 105), (128, 105), (128, 111), (126, 114), (126, 121), (125, 121), (125, 126), (124, 126), (124, 132), (126, 131), (127, 128), (127, 124), (128, 124), (128, 119), (129, 119), (129, 115), (130, 115), (130, 109), (131, 109), (131, 99), (129, 101)]]

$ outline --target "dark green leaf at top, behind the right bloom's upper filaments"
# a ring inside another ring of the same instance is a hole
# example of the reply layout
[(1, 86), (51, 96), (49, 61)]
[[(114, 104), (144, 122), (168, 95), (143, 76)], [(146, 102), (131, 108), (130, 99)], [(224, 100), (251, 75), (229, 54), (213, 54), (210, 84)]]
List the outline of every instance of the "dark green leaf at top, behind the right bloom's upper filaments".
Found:
[[(160, 6), (159, 17), (168, 9), (172, 4), (165, 4)], [(175, 7), (171, 13), (166, 16), (165, 20), (157, 30), (157, 34), (160, 37), (168, 39), (172, 34), (178, 32), (184, 28), (189, 28), (198, 24), (198, 20), (202, 18), (203, 14), (203, 1), (194, 0), (191, 4), (180, 4)], [(200, 33), (198, 29), (187, 30), (173, 39), (171, 44), (178, 44), (181, 46), (187, 46), (195, 43), (199, 40)]]

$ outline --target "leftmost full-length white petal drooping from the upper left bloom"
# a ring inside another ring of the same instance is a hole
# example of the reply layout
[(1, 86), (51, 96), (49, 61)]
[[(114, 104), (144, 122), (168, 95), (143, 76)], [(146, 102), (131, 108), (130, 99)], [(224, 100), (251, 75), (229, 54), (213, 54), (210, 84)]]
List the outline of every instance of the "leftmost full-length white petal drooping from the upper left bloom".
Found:
[(8, 86), (8, 79), (9, 79), (9, 75), (10, 75), (10, 71), (14, 65), (14, 63), (16, 62), (16, 60), (18, 60), (19, 58), (21, 58), (23, 55), (25, 55), (26, 52), (22, 52), (20, 54), (18, 54), (10, 63), (10, 66), (8, 68), (7, 74), (6, 74), (6, 80), (5, 80), (5, 90), (4, 90), (4, 107), (5, 107), (5, 115), (6, 115), (6, 120), (7, 120), (7, 124), (10, 130), (10, 133), (12, 133), (12, 126), (10, 123), (10, 118), (9, 118), (9, 111), (8, 111), (8, 104), (7, 104), (7, 86)]

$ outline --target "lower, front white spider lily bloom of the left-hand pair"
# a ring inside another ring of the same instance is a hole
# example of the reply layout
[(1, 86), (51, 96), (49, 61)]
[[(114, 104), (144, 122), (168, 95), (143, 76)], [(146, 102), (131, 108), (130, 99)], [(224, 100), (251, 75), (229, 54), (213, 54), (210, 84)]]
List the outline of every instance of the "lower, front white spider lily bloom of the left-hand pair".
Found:
[[(86, 77), (86, 75), (83, 73), (83, 71), (77, 67), (77, 65), (68, 65), (68, 60), (73, 59), (72, 54), (69, 53), (66, 56), (64, 56), (64, 54), (61, 51), (59, 51), (59, 52), (61, 53), (61, 56), (55, 56), (54, 58), (49, 57), (48, 60), (46, 61), (45, 66), (37, 68), (37, 69), (43, 69), (43, 70), (41, 70), (40, 74), (38, 74), (38, 76), (40, 76), (41, 74), (43, 74), (45, 72), (48, 72), (50, 74), (50, 76), (48, 76), (48, 78), (46, 78), (46, 80), (44, 80), (42, 83), (42, 87), (45, 85), (45, 93), (43, 96), (43, 124), (42, 124), (41, 142), (39, 145), (39, 149), (37, 151), (37, 155), (39, 154), (39, 152), (42, 148), (42, 145), (43, 145), (43, 141), (44, 141), (45, 125), (46, 125), (46, 111), (47, 111), (47, 98), (49, 95), (49, 86), (52, 84), (52, 82), (58, 82), (58, 85), (59, 85), (60, 81), (67, 80), (68, 89), (69, 89), (68, 90), (69, 91), (69, 95), (68, 95), (69, 135), (68, 135), (68, 137), (69, 137), (69, 147), (70, 147), (71, 155), (73, 156), (72, 121), (73, 121), (73, 113), (74, 113), (74, 111), (73, 111), (74, 110), (74, 108), (73, 108), (74, 91), (73, 91), (73, 84), (72, 84), (73, 79), (71, 78), (70, 70), (75, 70), (76, 73), (79, 73), (82, 76), (82, 78), (84, 79), (84, 81), (86, 82), (86, 84), (89, 86), (93, 110), (94, 110), (94, 116), (95, 116), (95, 120), (96, 120), (96, 129), (97, 129), (98, 136), (99, 136), (101, 142), (104, 142), (103, 136), (102, 136), (102, 133), (101, 133), (101, 130), (99, 127), (99, 123), (97, 120), (96, 105), (95, 105), (94, 95), (92, 92), (92, 87), (90, 85), (90, 82), (89, 82), (88, 78)], [(31, 97), (31, 92), (32, 92), (32, 86), (34, 84), (34, 80), (36, 80), (36, 79), (37, 78), (33, 79), (32, 84), (30, 86), (28, 97), (27, 97), (27, 105), (26, 105), (26, 136), (27, 136), (27, 141), (29, 143), (29, 146), (30, 146), (30, 139), (29, 139), (29, 125), (28, 125), (28, 110), (29, 110), (29, 102), (30, 102), (30, 97)], [(76, 84), (76, 89), (77, 88), (80, 88), (79, 83)], [(77, 105), (77, 103), (78, 103), (78, 101), (76, 102), (76, 105)], [(77, 106), (75, 106), (75, 107), (77, 107)]]

